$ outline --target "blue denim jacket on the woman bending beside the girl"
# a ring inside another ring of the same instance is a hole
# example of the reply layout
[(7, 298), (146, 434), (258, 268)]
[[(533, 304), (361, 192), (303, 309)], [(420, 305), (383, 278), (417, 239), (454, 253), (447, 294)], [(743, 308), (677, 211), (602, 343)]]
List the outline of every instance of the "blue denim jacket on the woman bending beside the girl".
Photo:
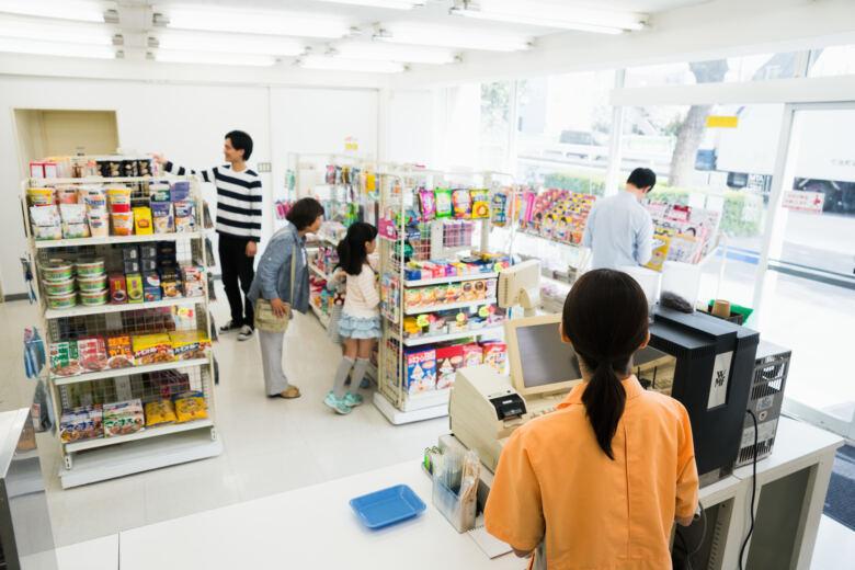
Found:
[[(294, 266), (294, 298), (290, 298), (290, 258), (297, 254)], [(309, 267), (306, 242), (297, 228), (288, 223), (267, 243), (255, 271), (255, 278), (247, 294), (254, 304), (259, 297), (271, 300), (276, 297), (290, 303), (294, 310), (306, 312), (309, 308)]]

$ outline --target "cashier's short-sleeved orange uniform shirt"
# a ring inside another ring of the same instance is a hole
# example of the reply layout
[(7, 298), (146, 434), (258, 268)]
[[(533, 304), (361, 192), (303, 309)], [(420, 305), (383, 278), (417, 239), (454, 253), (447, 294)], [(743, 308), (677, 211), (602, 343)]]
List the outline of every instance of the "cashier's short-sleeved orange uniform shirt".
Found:
[(550, 570), (671, 568), (674, 516), (697, 508), (692, 426), (679, 401), (635, 376), (623, 385), (614, 460), (585, 415), (584, 384), (511, 435), (486, 506), (491, 535), (520, 550), (545, 540)]

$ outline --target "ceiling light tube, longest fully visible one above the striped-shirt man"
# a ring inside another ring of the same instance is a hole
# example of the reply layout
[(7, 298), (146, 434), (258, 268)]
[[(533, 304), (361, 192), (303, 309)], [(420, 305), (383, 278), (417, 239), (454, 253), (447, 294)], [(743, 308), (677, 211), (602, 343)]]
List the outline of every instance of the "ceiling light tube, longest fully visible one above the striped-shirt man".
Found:
[(225, 10), (169, 7), (158, 9), (169, 19), (168, 27), (208, 32), (239, 32), (296, 37), (344, 37), (350, 25), (341, 19), (282, 11)]

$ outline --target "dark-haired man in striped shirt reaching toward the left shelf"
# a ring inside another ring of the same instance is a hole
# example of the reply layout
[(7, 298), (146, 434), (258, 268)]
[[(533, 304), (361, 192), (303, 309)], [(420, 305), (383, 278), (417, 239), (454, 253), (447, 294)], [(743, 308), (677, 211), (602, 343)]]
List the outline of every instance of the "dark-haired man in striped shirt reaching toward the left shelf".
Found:
[[(261, 240), (261, 180), (247, 167), (252, 155), (252, 138), (242, 130), (226, 135), (223, 149), (226, 162), (207, 170), (190, 170), (156, 157), (172, 174), (192, 174), (217, 189), (217, 233), (219, 235), (219, 266), (223, 286), (231, 308), (231, 321), (221, 332), (239, 330), (238, 340), (246, 341), (254, 330), (254, 311), (247, 298), (252, 277), (253, 261)], [(240, 283), (240, 286), (238, 286)], [(243, 294), (241, 294), (241, 290)]]

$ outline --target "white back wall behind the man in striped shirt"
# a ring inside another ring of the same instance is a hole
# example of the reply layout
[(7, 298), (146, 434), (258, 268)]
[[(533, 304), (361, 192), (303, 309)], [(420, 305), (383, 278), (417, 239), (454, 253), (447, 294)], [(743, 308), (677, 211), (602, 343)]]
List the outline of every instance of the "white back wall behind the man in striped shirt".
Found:
[[(270, 89), (137, 81), (42, 79), (0, 76), (0, 253), (3, 293), (24, 293), (18, 258), (26, 251), (13, 109), (115, 110), (119, 145), (160, 152), (187, 167), (223, 162), (223, 136), (235, 128), (254, 142), (250, 163), (273, 162), (277, 179), (262, 174), (264, 208), (272, 212), (274, 180), (282, 187), (290, 151), (337, 151), (344, 136), (376, 152), (375, 90)], [(213, 206), (213, 186), (204, 191)], [(212, 210), (212, 215), (214, 212)], [(270, 215), (272, 219), (272, 214)], [(265, 218), (263, 236), (272, 230)]]

